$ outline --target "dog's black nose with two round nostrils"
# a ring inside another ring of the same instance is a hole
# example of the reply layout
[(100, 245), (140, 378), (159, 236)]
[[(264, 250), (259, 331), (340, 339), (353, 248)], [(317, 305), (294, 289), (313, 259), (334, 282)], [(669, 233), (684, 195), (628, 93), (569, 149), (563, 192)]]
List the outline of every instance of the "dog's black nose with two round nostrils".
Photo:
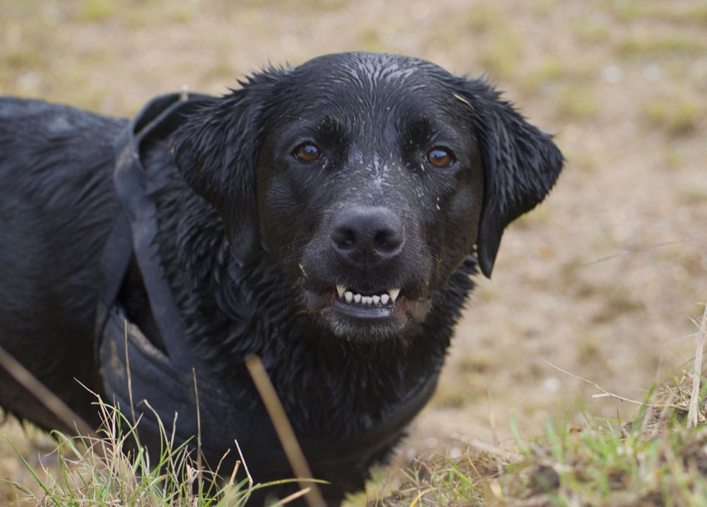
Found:
[(399, 217), (388, 208), (348, 208), (339, 212), (332, 245), (345, 263), (380, 265), (402, 252), (405, 234)]

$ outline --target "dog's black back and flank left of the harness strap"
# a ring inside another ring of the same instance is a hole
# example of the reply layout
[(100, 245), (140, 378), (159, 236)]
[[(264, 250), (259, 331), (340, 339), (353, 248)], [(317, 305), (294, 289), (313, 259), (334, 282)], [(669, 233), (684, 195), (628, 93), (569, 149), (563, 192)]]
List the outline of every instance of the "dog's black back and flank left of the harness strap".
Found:
[[(0, 98), (0, 346), (71, 407), (93, 364), (97, 263), (117, 204), (112, 143), (124, 120)], [(62, 427), (0, 369), (0, 406)], [(90, 414), (81, 414), (92, 420)]]

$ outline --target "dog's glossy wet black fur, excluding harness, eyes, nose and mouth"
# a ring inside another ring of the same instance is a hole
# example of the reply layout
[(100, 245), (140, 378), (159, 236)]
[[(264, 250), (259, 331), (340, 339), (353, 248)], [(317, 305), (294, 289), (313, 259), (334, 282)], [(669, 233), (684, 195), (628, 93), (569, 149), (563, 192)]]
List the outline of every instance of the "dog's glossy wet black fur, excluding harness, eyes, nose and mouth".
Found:
[[(73, 378), (102, 389), (93, 314), (122, 126), (0, 100), (0, 345), (92, 422)], [(298, 160), (302, 143), (322, 157)], [(448, 167), (426, 159), (440, 145)], [(441, 368), (476, 259), (490, 275), (503, 229), (542, 201), (562, 161), (484, 81), (363, 53), (257, 73), (144, 155), (163, 167), (156, 240), (194, 353), (254, 407), (243, 359), (259, 354), (294, 427), (342, 438), (385, 419)], [(334, 230), (351, 210), (395, 222), (376, 227), (404, 235), (400, 253), (337, 253)], [(402, 287), (399, 311), (351, 316), (337, 283)], [(133, 266), (121, 303), (159, 343), (143, 297)], [(2, 371), (0, 385), (6, 410), (59, 426)], [(334, 482), (329, 501), (362, 487), (393, 444), (346, 470), (314, 470)]]

